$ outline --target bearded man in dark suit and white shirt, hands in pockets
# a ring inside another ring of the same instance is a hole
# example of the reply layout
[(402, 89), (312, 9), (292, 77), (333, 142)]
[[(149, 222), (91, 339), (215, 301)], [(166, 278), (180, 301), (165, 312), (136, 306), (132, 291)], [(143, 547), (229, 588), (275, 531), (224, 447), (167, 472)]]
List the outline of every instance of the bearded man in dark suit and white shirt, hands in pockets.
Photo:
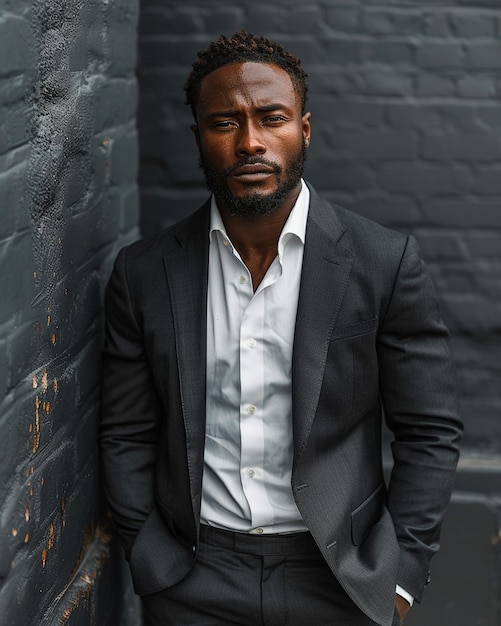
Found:
[(279, 44), (221, 37), (186, 94), (211, 198), (123, 250), (106, 296), (105, 482), (147, 623), (399, 624), (461, 433), (416, 243), (304, 183)]

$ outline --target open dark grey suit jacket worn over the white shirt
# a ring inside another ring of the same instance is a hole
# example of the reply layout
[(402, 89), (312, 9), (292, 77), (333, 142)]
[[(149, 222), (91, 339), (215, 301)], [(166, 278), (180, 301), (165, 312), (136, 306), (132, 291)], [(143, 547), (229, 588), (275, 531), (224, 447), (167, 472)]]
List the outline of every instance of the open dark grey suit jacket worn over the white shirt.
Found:
[[(196, 558), (204, 451), (209, 204), (119, 254), (106, 294), (101, 447), (136, 591)], [(293, 350), (297, 506), (376, 623), (417, 600), (458, 456), (447, 331), (412, 237), (311, 190)], [(394, 433), (383, 480), (381, 420)]]

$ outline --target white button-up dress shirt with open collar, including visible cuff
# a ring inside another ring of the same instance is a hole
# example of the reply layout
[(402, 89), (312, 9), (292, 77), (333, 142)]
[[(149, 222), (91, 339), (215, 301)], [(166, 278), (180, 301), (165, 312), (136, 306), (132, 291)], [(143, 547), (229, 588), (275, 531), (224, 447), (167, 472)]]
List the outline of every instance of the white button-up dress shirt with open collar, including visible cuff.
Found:
[[(254, 534), (307, 530), (291, 488), (291, 404), (309, 201), (302, 181), (278, 254), (254, 292), (212, 197), (203, 524)], [(404, 589), (397, 593), (412, 604)]]

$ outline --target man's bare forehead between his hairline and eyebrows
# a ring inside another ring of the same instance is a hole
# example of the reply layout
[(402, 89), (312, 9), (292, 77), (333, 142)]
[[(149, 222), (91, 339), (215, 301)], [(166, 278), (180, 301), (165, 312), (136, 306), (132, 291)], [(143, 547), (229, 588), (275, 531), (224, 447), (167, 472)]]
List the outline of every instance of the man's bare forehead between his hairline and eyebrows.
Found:
[(235, 108), (242, 105), (283, 104), (293, 108), (300, 99), (291, 77), (273, 63), (231, 63), (202, 81), (199, 107)]

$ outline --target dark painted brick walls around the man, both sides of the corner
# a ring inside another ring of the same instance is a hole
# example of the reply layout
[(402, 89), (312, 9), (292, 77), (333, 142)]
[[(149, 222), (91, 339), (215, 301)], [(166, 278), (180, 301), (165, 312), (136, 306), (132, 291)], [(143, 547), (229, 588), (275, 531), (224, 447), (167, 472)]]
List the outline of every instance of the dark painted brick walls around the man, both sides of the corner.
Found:
[[(0, 0), (0, 622), (9, 625), (139, 624), (101, 522), (95, 442), (102, 289), (118, 248), (137, 236), (137, 17), (137, 0)], [(196, 51), (239, 27), (304, 60), (307, 177), (423, 247), (453, 332), (467, 430), (431, 609), (408, 622), (495, 626), (501, 2), (142, 0), (144, 233), (206, 196), (182, 84)]]

